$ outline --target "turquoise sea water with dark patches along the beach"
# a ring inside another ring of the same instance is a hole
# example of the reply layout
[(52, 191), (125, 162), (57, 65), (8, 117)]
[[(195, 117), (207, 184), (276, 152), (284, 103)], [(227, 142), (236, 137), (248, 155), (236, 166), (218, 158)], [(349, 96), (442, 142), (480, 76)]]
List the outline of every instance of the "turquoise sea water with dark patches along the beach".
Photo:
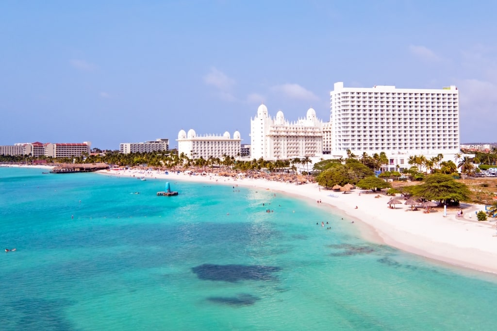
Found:
[(0, 253), (1, 330), (497, 324), (497, 276), (367, 242), (328, 208), (174, 175), (180, 194), (158, 197), (166, 180), (41, 172), (0, 167), (0, 246), (17, 248)]

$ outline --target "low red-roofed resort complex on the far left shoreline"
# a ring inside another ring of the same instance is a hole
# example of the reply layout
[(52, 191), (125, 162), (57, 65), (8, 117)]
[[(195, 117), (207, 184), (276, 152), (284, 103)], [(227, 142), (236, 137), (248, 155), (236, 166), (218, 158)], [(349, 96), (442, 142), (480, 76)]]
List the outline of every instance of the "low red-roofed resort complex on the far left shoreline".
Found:
[(32, 157), (38, 158), (41, 156), (53, 157), (53, 158), (70, 158), (89, 155), (91, 150), (91, 143), (85, 141), (83, 143), (17, 143), (14, 146), (1, 146), (0, 154), (2, 151), (10, 151), (9, 155), (30, 155)]

